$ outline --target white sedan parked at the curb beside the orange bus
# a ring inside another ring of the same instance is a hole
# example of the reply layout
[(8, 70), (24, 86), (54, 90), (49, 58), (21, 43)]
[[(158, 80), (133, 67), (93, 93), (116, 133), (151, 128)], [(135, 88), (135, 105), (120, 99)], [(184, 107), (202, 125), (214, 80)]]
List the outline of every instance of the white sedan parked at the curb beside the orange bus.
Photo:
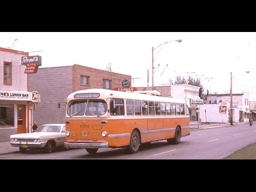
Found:
[(44, 124), (33, 133), (10, 135), (10, 145), (19, 147), (21, 153), (27, 149), (45, 149), (52, 153), (52, 149), (64, 147), (66, 139), (66, 124)]

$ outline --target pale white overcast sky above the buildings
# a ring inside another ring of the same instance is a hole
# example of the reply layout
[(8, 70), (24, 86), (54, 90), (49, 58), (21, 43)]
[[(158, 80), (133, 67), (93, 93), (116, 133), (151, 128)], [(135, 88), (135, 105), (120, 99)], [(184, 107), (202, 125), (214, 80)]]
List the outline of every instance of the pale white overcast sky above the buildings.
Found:
[(256, 101), (255, 32), (0, 32), (0, 47), (41, 55), (39, 68), (110, 67), (131, 75), (133, 87), (152, 86), (153, 72), (154, 86), (191, 76), (204, 92), (229, 93), (232, 73), (233, 93)]

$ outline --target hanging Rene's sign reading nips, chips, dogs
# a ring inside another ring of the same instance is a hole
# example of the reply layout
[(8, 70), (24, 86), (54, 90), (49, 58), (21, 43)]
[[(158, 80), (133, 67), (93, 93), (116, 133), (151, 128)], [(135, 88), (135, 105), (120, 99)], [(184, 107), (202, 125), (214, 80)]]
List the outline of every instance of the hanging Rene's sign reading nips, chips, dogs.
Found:
[(42, 65), (42, 57), (38, 55), (21, 57), (21, 65), (26, 66), (24, 73), (36, 73), (38, 66)]

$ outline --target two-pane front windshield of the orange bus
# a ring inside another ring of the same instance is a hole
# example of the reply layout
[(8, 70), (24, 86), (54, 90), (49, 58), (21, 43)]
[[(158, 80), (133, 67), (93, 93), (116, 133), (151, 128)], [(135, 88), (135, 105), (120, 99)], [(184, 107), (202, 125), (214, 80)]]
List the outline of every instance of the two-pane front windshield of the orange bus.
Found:
[(107, 103), (103, 100), (74, 101), (67, 110), (69, 116), (104, 115), (107, 112)]

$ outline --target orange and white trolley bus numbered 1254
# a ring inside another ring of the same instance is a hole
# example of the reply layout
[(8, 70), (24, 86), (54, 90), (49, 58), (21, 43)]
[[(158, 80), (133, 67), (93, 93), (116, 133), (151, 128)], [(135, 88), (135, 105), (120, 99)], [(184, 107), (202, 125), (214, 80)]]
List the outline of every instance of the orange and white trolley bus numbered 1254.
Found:
[(178, 144), (187, 135), (188, 106), (158, 91), (87, 89), (67, 97), (66, 148), (95, 154), (99, 148), (126, 147), (134, 154), (142, 143)]

